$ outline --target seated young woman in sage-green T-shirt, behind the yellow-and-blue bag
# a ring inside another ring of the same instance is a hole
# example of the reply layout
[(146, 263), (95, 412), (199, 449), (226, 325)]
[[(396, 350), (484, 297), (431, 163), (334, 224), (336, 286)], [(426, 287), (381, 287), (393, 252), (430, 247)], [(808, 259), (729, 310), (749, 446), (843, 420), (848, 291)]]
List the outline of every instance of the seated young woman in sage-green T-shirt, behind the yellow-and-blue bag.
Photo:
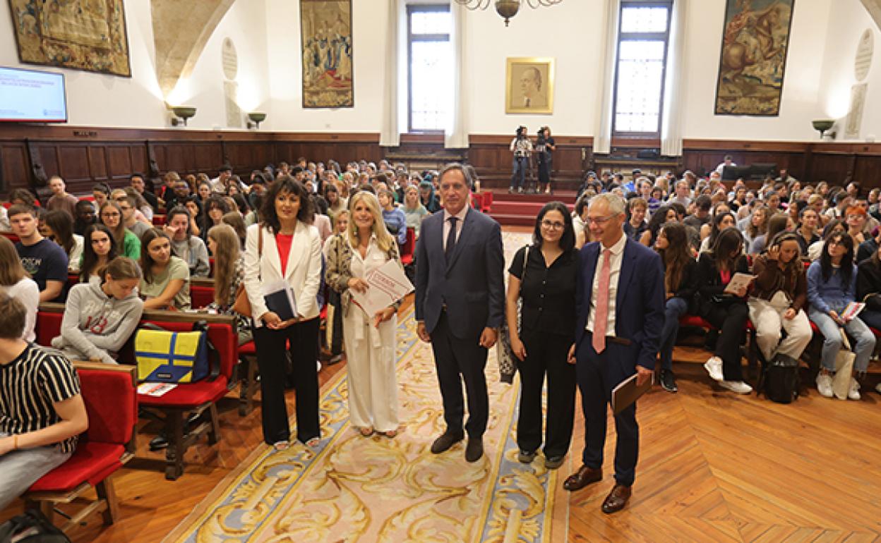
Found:
[(171, 252), (171, 237), (151, 228), (144, 233), (138, 287), (144, 309), (189, 309), (189, 267)]

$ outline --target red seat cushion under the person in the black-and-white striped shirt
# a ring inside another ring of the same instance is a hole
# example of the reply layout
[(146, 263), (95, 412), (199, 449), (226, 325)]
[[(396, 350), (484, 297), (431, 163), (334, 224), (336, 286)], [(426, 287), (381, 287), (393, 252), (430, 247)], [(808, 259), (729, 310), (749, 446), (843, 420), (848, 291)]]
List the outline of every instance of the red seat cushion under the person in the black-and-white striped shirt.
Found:
[(95, 486), (107, 475), (122, 467), (120, 458), (125, 452), (122, 444), (79, 443), (77, 451), (66, 462), (43, 475), (31, 485), (31, 492), (66, 492), (84, 482)]

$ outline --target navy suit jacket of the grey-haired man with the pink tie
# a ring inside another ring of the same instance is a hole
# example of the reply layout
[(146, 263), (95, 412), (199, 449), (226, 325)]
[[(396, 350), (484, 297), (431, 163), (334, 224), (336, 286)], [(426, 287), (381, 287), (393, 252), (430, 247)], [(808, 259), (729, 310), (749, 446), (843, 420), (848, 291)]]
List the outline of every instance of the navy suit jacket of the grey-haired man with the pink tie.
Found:
[[(581, 276), (575, 286), (575, 344), (588, 324), (600, 243), (581, 248)], [(655, 369), (664, 321), (664, 285), (661, 257), (647, 246), (628, 238), (618, 275), (615, 297), (615, 335), (631, 341), (626, 363)], [(635, 366), (634, 366), (635, 368)]]

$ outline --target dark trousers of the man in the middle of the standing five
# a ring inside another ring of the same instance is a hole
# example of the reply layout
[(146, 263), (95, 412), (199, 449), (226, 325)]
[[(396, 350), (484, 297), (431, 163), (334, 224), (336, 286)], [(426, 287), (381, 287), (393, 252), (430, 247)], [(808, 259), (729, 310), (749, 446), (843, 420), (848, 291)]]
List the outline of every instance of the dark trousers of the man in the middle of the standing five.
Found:
[(447, 312), (441, 312), (441, 319), (431, 334), (434, 365), (443, 397), (443, 418), (447, 422), (447, 431), (462, 431), (464, 380), (468, 393), (468, 422), (464, 428), (470, 437), (482, 437), (490, 408), (484, 375), (486, 349), (480, 347), (479, 336), (464, 340), (455, 337), (447, 319)]

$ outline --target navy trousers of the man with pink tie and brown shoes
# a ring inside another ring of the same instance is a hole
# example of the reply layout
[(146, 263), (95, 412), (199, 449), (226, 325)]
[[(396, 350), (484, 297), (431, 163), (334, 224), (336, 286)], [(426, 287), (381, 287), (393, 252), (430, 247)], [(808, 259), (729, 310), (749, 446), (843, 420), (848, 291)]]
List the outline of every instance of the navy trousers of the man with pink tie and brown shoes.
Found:
[[(581, 459), (585, 466), (603, 467), (607, 409), (611, 404), (611, 391), (625, 378), (636, 372), (632, 347), (606, 341), (599, 355), (591, 345), (592, 335), (585, 333), (575, 349), (578, 361), (575, 372), (581, 390), (581, 409), (584, 412), (584, 452)], [(636, 477), (636, 460), (640, 451), (640, 426), (636, 423), (636, 403), (615, 415), (615, 481), (627, 487)]]

